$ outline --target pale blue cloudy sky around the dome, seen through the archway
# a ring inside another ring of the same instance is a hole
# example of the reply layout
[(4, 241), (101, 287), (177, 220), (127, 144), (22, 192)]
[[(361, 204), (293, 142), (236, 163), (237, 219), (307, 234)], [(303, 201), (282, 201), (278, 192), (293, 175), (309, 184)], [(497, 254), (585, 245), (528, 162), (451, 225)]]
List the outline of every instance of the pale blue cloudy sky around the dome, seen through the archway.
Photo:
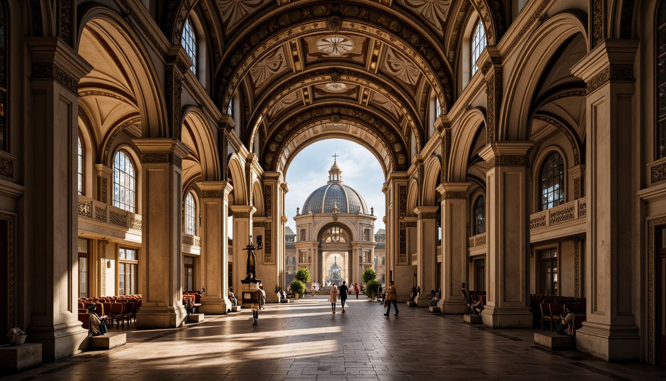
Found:
[(296, 216), (296, 207), (301, 208), (300, 212), (303, 213), (305, 199), (318, 187), (326, 185), (334, 154), (338, 155), (337, 161), (342, 170), (344, 185), (356, 189), (366, 200), (368, 210), (374, 208), (374, 215), (377, 216), (375, 232), (384, 229), (384, 171), (377, 158), (366, 147), (344, 139), (326, 139), (312, 143), (297, 153), (291, 161), (285, 179), (289, 185), (289, 192), (285, 197), (285, 214), (289, 218), (286, 226), (294, 230), (296, 225), (293, 217)]

